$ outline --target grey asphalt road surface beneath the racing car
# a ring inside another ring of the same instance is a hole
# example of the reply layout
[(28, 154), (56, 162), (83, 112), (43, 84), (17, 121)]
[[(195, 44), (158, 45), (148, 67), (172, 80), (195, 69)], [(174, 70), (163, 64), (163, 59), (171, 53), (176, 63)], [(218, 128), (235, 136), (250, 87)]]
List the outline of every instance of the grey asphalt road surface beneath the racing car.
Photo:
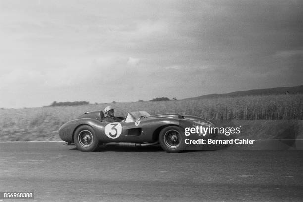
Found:
[(83, 153), (63, 143), (0, 143), (0, 191), (35, 192), (22, 202), (299, 202), (303, 150)]

